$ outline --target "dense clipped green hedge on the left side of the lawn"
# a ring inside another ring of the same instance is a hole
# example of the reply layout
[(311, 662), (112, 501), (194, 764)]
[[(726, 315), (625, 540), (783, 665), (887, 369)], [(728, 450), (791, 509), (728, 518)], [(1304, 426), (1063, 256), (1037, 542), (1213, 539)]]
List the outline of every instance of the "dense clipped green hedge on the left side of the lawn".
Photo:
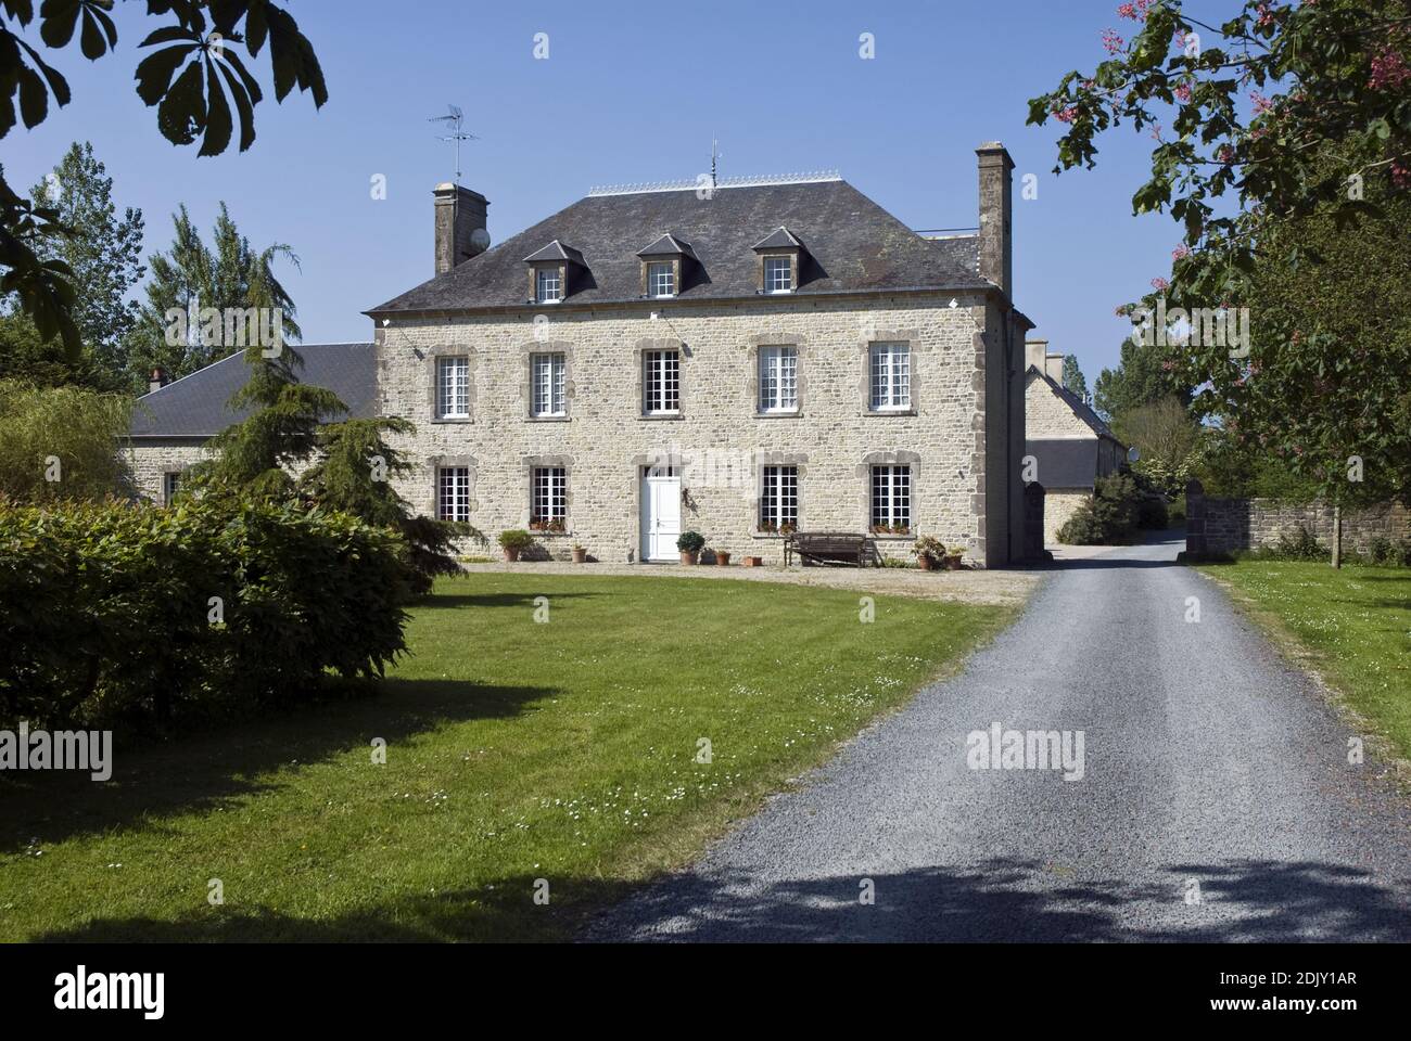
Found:
[(223, 715), (381, 676), (405, 650), (405, 556), (293, 505), (0, 504), (0, 725)]

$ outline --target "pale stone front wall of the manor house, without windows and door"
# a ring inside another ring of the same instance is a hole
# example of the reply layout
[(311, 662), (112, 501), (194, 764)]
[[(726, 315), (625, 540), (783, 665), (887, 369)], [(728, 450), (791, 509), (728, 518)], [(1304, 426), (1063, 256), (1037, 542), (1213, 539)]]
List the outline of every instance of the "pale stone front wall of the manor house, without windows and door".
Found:
[[(780, 539), (756, 530), (762, 465), (799, 467), (801, 529), (865, 532), (871, 465), (907, 463), (913, 530), (967, 544), (983, 563), (986, 308), (979, 295), (950, 300), (772, 299), (667, 306), (656, 320), (648, 303), (398, 320), (377, 329), (380, 410), (418, 426), (395, 442), (416, 467), (398, 491), (435, 515), (436, 465), (467, 465), (470, 520), (494, 539), (528, 526), (531, 467), (566, 465), (569, 530), (538, 540), (559, 559), (577, 542), (625, 561), (641, 556), (642, 467), (670, 457), (683, 468), (683, 530), (737, 560), (779, 561)], [(868, 344), (883, 340), (912, 344), (913, 409), (903, 415), (868, 412)], [(797, 415), (756, 410), (756, 351), (775, 344), (799, 350)], [(674, 346), (682, 413), (643, 416), (642, 351)], [(567, 355), (567, 419), (529, 416), (536, 351)], [(468, 422), (433, 418), (440, 354), (470, 357)], [(904, 556), (913, 537), (878, 543)]]

